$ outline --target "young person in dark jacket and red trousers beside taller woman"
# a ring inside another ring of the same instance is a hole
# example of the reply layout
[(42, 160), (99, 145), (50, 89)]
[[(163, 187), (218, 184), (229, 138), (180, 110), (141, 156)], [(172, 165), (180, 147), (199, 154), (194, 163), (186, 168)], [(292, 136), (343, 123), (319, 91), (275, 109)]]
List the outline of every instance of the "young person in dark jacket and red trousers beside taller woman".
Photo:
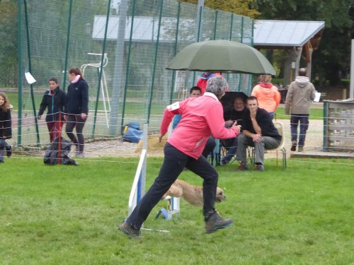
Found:
[(42, 102), (40, 103), (38, 119), (41, 119), (43, 112), (47, 108), (45, 122), (47, 122), (50, 142), (52, 143), (57, 136), (60, 136), (62, 131), (64, 123), (63, 113), (65, 107), (65, 93), (59, 88), (56, 78), (50, 78), (49, 87), (50, 90), (45, 91)]

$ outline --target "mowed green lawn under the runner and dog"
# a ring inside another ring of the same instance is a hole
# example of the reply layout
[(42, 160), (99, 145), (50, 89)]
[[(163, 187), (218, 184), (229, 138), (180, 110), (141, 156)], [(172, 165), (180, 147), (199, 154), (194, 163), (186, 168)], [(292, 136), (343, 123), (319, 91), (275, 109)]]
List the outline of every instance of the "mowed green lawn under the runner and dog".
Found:
[[(0, 264), (353, 264), (353, 160), (268, 159), (265, 172), (217, 167), (232, 227), (206, 235), (200, 207), (181, 200), (172, 220), (155, 219), (142, 239), (116, 226), (127, 216), (137, 159), (46, 166), (38, 158), (0, 165)], [(149, 158), (147, 185), (161, 158)], [(201, 185), (189, 171), (181, 179)], [(168, 233), (156, 230), (169, 230)]]

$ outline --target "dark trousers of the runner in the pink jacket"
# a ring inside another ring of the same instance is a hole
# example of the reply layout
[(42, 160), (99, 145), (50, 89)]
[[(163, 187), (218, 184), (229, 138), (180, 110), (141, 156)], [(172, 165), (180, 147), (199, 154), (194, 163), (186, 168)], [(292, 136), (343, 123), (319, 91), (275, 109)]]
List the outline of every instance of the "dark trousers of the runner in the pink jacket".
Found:
[(194, 172), (204, 179), (202, 183), (204, 206), (203, 213), (205, 218), (215, 213), (215, 194), (217, 190), (217, 171), (207, 159), (200, 155), (195, 158), (185, 155), (177, 148), (166, 143), (164, 147), (164, 163), (161, 166), (159, 176), (156, 177), (154, 184), (149, 191), (142, 197), (139, 204), (127, 218), (132, 228), (140, 229), (144, 220), (147, 219), (152, 208), (160, 201), (161, 197), (169, 190), (173, 182), (181, 174), (184, 167)]

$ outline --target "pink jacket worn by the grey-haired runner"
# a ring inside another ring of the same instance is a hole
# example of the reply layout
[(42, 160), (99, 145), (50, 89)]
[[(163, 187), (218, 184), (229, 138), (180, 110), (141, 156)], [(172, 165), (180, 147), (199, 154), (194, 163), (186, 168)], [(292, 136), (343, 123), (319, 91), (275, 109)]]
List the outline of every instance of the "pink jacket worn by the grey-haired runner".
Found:
[(199, 98), (188, 98), (167, 106), (161, 122), (161, 134), (166, 134), (175, 114), (182, 114), (182, 119), (167, 141), (195, 159), (202, 154), (210, 135), (217, 139), (234, 138), (239, 135), (235, 128), (224, 127), (222, 104), (209, 92), (205, 92)]

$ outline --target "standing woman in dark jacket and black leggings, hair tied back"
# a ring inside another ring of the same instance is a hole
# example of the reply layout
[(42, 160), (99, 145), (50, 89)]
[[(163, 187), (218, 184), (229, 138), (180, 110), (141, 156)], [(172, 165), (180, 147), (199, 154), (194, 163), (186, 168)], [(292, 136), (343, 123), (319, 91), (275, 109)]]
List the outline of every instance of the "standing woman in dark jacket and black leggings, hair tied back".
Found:
[[(82, 78), (78, 68), (69, 70), (70, 85), (67, 90), (64, 119), (67, 120), (65, 131), (72, 143), (76, 146), (76, 157), (84, 158), (84, 135), (82, 131), (89, 112), (89, 86)], [(73, 133), (76, 128), (76, 135)]]

